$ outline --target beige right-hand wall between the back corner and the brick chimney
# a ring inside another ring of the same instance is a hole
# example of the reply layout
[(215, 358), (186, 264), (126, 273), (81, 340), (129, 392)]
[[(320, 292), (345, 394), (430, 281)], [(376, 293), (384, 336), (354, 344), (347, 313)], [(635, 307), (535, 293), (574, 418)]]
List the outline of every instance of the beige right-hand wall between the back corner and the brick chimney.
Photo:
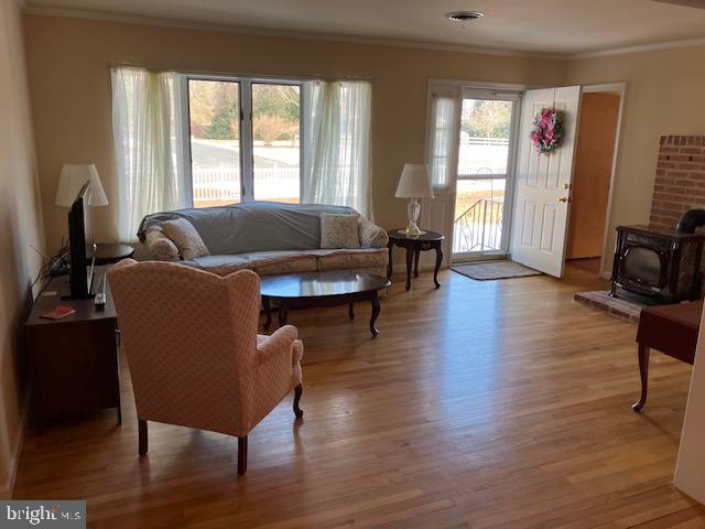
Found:
[(607, 270), (615, 227), (649, 222), (661, 136), (705, 133), (704, 64), (705, 46), (567, 63), (566, 84), (627, 83)]

